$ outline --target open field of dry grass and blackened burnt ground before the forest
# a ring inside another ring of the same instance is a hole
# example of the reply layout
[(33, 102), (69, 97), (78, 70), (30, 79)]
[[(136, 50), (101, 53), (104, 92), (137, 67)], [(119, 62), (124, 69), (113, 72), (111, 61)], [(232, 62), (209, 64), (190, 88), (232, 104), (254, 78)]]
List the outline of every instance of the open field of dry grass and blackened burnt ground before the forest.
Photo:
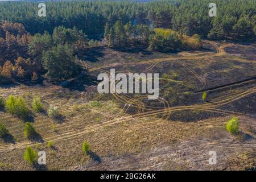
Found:
[[(32, 113), (41, 140), (31, 141), (23, 137), (24, 121), (2, 110), (0, 123), (11, 136), (0, 140), (0, 169), (255, 169), (256, 47), (216, 42), (204, 47), (172, 53), (99, 48), (87, 56), (93, 59), (79, 61), (92, 77), (84, 89), (75, 87), (76, 80), (67, 88), (2, 87), (1, 96), (21, 95), (28, 105), (32, 96), (42, 96), (44, 108), (60, 107), (61, 118)], [(95, 77), (111, 68), (159, 73), (159, 99), (98, 94)], [(233, 117), (240, 120), (237, 135), (225, 130)], [(89, 155), (82, 154), (84, 139)], [(54, 147), (47, 147), (51, 141)], [(23, 160), (27, 146), (46, 151), (44, 168)], [(209, 151), (216, 151), (216, 165), (208, 163)]]

